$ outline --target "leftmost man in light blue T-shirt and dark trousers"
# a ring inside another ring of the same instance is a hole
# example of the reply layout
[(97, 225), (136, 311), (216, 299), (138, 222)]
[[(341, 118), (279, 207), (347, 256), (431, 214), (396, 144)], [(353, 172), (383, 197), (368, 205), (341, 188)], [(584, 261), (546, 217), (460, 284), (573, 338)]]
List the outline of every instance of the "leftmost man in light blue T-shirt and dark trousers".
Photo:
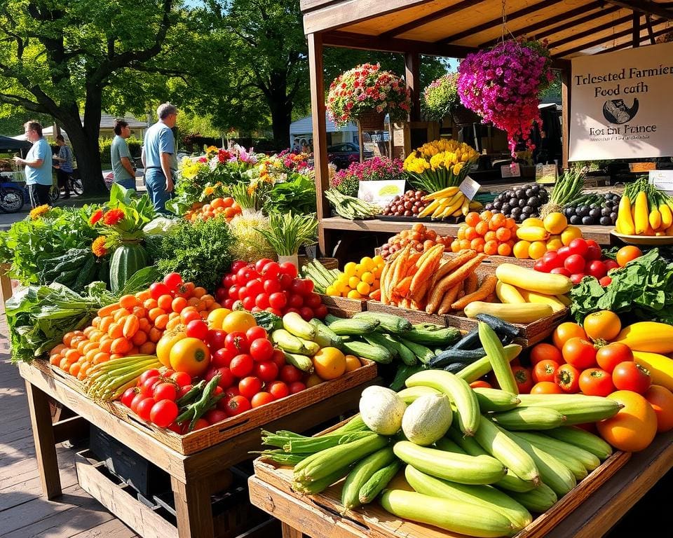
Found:
[(51, 177), (51, 148), (42, 137), (42, 125), (35, 120), (27, 121), (25, 128), (28, 142), (33, 146), (25, 159), (15, 157), (14, 162), (25, 166), (26, 186), (30, 195), (30, 205), (37, 207), (49, 203), (49, 191), (53, 183)]

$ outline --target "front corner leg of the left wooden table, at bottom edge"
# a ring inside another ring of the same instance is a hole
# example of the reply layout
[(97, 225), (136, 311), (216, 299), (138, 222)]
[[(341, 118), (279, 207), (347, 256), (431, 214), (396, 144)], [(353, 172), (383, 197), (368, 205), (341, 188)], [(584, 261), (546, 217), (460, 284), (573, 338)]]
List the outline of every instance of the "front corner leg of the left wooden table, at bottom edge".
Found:
[(213, 538), (210, 488), (208, 481), (184, 484), (170, 477), (177, 512), (177, 535), (179, 538)]

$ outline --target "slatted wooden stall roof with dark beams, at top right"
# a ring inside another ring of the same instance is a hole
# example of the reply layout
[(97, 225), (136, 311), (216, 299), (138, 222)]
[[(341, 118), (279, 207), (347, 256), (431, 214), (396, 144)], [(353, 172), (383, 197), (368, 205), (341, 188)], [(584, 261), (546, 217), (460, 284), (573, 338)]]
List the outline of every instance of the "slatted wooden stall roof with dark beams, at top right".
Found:
[[(549, 42), (557, 59), (654, 43), (673, 30), (672, 1), (507, 0), (515, 37)], [(502, 36), (500, 0), (301, 0), (304, 32), (325, 46), (465, 57)], [(634, 39), (635, 38), (635, 39)]]

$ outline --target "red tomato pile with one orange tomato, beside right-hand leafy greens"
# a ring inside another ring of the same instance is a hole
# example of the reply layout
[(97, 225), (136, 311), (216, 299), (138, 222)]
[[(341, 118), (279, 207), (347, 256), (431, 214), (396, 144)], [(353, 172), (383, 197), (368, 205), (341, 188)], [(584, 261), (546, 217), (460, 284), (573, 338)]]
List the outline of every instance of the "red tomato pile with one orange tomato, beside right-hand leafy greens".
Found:
[(628, 246), (618, 251), (617, 261), (602, 258), (597, 242), (578, 237), (556, 251), (547, 251), (535, 262), (534, 268), (541, 273), (566, 275), (573, 284), (579, 284), (585, 276), (590, 276), (596, 278), (601, 286), (608, 286), (612, 282), (609, 270), (623, 267), (641, 255), (637, 247)]

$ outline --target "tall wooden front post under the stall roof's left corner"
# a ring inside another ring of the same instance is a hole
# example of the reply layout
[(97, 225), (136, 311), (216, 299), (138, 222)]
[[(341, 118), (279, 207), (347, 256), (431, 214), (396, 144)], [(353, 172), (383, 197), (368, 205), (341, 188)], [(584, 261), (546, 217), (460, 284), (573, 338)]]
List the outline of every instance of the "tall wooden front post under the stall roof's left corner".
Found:
[[(322, 34), (308, 34), (308, 74), (311, 82), (311, 116), (313, 117), (313, 167), (318, 220), (329, 216), (325, 191), (329, 188), (327, 167), (327, 132), (325, 129), (325, 80), (322, 76)], [(362, 146), (360, 146), (362, 148)], [(318, 244), (327, 255), (325, 234), (319, 230)]]

